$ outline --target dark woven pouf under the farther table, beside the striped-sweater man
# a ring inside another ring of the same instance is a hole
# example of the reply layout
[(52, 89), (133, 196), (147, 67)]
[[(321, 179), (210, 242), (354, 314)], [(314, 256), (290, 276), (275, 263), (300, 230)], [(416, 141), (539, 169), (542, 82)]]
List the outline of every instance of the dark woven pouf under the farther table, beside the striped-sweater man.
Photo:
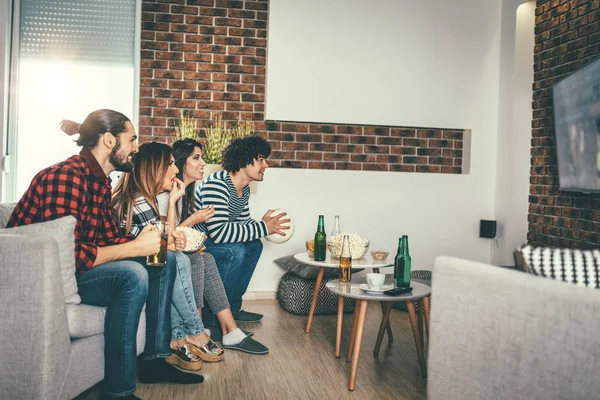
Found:
[[(314, 315), (337, 314), (338, 297), (325, 287), (327, 282), (335, 279), (337, 277), (323, 278)], [(279, 281), (277, 300), (279, 305), (291, 314), (308, 315), (314, 290), (315, 280), (300, 278), (296, 274), (286, 272)], [(353, 312), (354, 303), (354, 299), (344, 298), (344, 312)]]

